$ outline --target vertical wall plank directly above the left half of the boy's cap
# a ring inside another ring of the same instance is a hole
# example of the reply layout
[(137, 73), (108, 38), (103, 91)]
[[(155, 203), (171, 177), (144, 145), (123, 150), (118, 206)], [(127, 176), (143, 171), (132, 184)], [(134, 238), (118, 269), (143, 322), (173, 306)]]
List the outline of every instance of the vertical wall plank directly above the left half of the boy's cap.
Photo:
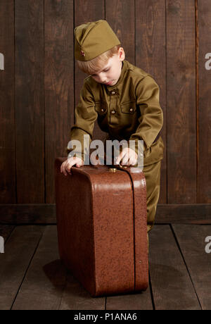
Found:
[[(105, 19), (104, 0), (75, 0), (75, 27), (100, 19)], [(75, 106), (79, 101), (79, 92), (85, 77), (87, 75), (79, 70), (77, 62), (75, 62)], [(105, 137), (105, 133), (98, 127), (97, 121), (94, 126), (93, 135), (93, 139), (103, 140)]]

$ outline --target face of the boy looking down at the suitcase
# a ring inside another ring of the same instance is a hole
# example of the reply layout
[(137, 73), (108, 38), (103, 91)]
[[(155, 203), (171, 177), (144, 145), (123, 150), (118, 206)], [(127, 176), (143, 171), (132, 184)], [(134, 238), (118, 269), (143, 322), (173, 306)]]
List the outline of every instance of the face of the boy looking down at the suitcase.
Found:
[(103, 83), (104, 85), (115, 85), (121, 75), (122, 61), (124, 61), (124, 50), (120, 47), (118, 54), (109, 58), (102, 70), (92, 74), (91, 77), (96, 82)]

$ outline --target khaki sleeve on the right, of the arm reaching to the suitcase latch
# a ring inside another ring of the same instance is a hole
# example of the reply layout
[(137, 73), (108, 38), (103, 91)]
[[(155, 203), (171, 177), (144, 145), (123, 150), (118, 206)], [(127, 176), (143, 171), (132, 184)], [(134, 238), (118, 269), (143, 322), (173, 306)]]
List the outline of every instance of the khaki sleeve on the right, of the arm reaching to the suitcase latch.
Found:
[(138, 139), (143, 139), (144, 149), (151, 147), (162, 128), (163, 114), (159, 93), (159, 87), (150, 75), (143, 77), (136, 86), (136, 104), (140, 109), (139, 126), (129, 138), (135, 140), (136, 148)]

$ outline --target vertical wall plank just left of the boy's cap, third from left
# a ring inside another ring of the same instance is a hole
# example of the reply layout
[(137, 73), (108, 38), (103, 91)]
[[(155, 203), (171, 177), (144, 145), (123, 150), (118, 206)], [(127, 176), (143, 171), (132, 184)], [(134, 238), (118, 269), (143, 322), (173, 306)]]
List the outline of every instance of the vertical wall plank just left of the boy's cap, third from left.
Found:
[(54, 159), (66, 156), (74, 122), (73, 0), (46, 0), (44, 13), (46, 203), (53, 203)]

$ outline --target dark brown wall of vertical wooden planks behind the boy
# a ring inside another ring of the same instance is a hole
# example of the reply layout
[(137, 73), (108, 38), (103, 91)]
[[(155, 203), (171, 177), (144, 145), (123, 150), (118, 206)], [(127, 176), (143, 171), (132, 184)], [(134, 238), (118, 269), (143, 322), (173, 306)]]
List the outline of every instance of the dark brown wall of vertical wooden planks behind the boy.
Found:
[[(160, 204), (210, 204), (210, 0), (1, 0), (1, 204), (54, 203), (54, 158), (65, 156), (86, 76), (73, 30), (99, 19), (160, 86)], [(97, 125), (94, 135), (104, 136)]]

